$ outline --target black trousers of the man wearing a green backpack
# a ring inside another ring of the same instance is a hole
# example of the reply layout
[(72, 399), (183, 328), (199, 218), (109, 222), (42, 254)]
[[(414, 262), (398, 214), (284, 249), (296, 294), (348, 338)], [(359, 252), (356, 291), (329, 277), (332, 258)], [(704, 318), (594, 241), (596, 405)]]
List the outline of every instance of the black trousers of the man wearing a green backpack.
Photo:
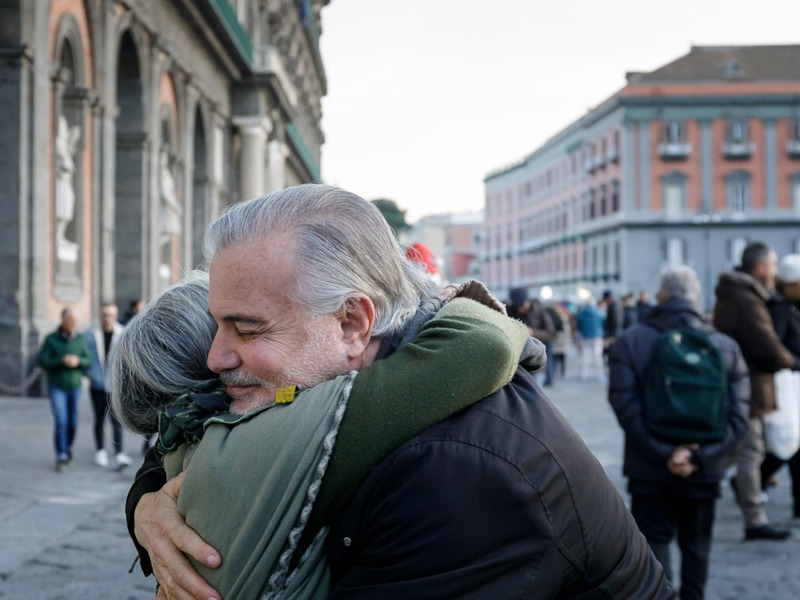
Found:
[(670, 581), (670, 543), (677, 536), (681, 551), (681, 600), (701, 600), (708, 579), (708, 555), (716, 498), (631, 496), (631, 514)]

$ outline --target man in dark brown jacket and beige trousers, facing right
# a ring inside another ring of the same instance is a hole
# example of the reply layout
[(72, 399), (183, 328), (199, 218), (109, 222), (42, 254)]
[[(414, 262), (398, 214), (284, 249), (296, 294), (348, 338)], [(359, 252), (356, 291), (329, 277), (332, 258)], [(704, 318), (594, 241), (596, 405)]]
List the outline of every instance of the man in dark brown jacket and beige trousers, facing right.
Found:
[(750, 416), (736, 450), (735, 479), (747, 540), (783, 540), (790, 535), (769, 525), (761, 496), (762, 417), (775, 410), (775, 372), (800, 368), (800, 359), (781, 344), (767, 310), (776, 272), (775, 252), (760, 242), (749, 244), (740, 269), (720, 274), (714, 306), (714, 325), (739, 343), (750, 371)]

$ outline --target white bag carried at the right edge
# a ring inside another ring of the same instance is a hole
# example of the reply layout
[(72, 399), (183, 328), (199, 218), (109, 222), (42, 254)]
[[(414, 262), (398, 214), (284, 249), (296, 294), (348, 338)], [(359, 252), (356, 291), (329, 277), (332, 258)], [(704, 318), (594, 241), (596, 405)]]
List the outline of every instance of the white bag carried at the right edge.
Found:
[(764, 415), (767, 451), (789, 460), (800, 449), (800, 373), (775, 373), (775, 402), (778, 409)]

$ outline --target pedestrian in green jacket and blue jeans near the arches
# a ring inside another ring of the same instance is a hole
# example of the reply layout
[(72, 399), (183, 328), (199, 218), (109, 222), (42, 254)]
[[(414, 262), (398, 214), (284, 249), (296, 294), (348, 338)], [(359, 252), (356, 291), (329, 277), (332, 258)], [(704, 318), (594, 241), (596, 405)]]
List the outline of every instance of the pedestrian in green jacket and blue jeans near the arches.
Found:
[(39, 366), (47, 374), (47, 395), (54, 421), (56, 471), (62, 473), (72, 460), (72, 444), (78, 429), (81, 381), (89, 368), (89, 347), (77, 331), (71, 308), (61, 311), (61, 324), (39, 349)]

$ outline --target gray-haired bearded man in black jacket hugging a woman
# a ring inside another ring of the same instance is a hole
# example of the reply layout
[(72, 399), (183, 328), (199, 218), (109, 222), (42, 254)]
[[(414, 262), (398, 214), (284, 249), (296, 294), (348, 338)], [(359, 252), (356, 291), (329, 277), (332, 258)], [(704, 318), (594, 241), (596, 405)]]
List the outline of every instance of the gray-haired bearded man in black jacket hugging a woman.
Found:
[[(237, 413), (388, 356), (441, 306), (379, 211), (330, 186), (229, 207), (206, 258), (208, 365)], [(143, 568), (158, 598), (219, 598), (182, 553), (212, 568), (225, 557), (186, 526), (180, 482), (164, 479), (146, 463), (128, 497)], [(322, 525), (332, 598), (674, 597), (602, 466), (523, 367), (397, 449)]]

